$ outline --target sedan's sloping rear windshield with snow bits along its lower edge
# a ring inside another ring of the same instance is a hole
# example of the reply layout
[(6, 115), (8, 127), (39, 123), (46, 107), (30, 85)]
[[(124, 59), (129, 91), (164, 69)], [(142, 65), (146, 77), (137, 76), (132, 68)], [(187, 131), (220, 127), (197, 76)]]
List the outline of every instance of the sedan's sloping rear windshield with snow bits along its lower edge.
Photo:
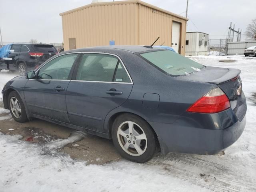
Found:
[(170, 50), (147, 52), (140, 56), (172, 76), (188, 75), (204, 68), (203, 65)]

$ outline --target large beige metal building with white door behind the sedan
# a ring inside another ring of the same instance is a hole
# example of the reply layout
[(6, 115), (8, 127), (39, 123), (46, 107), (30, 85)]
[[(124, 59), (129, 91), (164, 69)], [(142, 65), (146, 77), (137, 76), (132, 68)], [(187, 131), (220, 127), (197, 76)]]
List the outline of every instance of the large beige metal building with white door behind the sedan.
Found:
[(185, 54), (188, 19), (140, 0), (92, 3), (60, 14), (64, 49), (164, 43)]

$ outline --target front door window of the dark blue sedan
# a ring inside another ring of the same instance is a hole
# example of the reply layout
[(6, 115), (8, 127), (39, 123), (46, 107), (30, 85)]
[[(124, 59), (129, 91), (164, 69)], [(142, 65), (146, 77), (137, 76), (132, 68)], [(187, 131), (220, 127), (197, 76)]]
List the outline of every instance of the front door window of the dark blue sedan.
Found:
[(77, 56), (75, 53), (54, 58), (39, 69), (38, 79), (67, 80)]

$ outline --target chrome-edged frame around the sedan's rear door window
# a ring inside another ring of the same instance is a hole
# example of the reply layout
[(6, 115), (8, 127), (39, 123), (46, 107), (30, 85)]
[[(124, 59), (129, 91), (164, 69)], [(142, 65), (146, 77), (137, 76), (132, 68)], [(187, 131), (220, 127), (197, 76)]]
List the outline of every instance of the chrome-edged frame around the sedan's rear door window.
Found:
[[(75, 53), (75, 52), (74, 52)], [(133, 84), (133, 81), (132, 81), (132, 78), (128, 72), (128, 70), (126, 69), (126, 66), (124, 65), (124, 62), (121, 60), (121, 58), (116, 55), (116, 54), (111, 54), (111, 53), (104, 53), (104, 52), (79, 52), (79, 53), (82, 53), (82, 54), (105, 54), (105, 55), (112, 55), (112, 56), (115, 56), (117, 59), (118, 59), (118, 62), (121, 62), (122, 66), (124, 66), (124, 70), (126, 71), (126, 74), (128, 75), (129, 79), (130, 79), (130, 82), (114, 82), (114, 81), (86, 81), (86, 80), (76, 80), (76, 75), (77, 75), (77, 72), (78, 72), (78, 67), (80, 65), (80, 61), (76, 63), (76, 69), (74, 70), (74, 75), (72, 76), (72, 79), (71, 81), (74, 81), (74, 82), (94, 82), (94, 83), (119, 83), (119, 84)], [(82, 58), (82, 57), (81, 57)], [(118, 63), (117, 63), (118, 64)], [(114, 74), (115, 76), (115, 74)]]

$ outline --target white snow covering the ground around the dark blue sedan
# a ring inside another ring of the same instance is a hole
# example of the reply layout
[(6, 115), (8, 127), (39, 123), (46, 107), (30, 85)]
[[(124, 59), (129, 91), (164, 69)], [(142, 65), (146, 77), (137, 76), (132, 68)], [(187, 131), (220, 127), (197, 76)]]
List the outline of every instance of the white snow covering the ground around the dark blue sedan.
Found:
[[(86, 165), (46, 145), (0, 134), (0, 189), (3, 191), (256, 191), (256, 58), (192, 56), (201, 64), (242, 70), (248, 104), (242, 136), (225, 155), (170, 153), (145, 164), (126, 160)], [(219, 62), (236, 60), (236, 62)], [(0, 73), (0, 79), (2, 72)], [(7, 79), (6, 79), (7, 80)], [(2, 84), (2, 82), (1, 82)], [(0, 122), (1, 125), (1, 122)], [(54, 145), (58, 145), (57, 142)], [(60, 144), (62, 146), (62, 143)], [(202, 174), (200, 176), (200, 174)], [(204, 175), (205, 174), (205, 175)]]

